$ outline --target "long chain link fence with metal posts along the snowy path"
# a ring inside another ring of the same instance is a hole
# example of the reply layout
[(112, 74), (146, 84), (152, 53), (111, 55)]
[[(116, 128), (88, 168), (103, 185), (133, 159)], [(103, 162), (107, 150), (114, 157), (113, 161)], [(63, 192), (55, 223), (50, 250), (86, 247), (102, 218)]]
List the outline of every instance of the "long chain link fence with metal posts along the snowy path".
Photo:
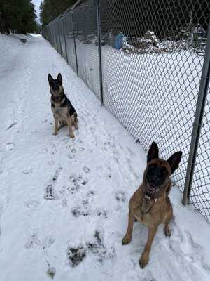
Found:
[(207, 0), (86, 0), (42, 35), (145, 150), (183, 151), (173, 181), (210, 221), (209, 18)]

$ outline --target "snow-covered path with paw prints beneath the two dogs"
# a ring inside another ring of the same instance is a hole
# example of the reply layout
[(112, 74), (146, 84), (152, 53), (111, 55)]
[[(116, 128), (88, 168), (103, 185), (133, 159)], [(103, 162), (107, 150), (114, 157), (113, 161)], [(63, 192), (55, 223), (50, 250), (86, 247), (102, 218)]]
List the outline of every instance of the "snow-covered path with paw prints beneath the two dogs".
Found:
[[(0, 34), (0, 62), (1, 280), (50, 280), (48, 263), (57, 281), (209, 280), (210, 225), (183, 207), (176, 187), (172, 237), (160, 226), (144, 270), (147, 228), (135, 223), (121, 244), (146, 152), (55, 49), (42, 37)], [(52, 136), (47, 77), (58, 72), (78, 112), (74, 139), (67, 128)]]

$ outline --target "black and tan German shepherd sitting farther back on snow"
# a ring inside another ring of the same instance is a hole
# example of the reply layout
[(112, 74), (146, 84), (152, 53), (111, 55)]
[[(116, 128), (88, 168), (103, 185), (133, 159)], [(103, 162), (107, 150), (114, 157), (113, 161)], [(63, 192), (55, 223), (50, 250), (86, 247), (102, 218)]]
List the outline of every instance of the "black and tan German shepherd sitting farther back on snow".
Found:
[[(55, 131), (53, 135), (57, 135), (57, 131), (62, 127), (69, 126), (69, 136), (74, 138), (71, 124), (73, 123), (75, 129), (78, 129), (77, 113), (70, 100), (64, 94), (64, 87), (62, 86), (62, 74), (57, 75), (57, 79), (53, 79), (48, 74), (48, 82), (51, 93), (51, 109), (55, 119)], [(60, 125), (58, 126), (58, 122)]]

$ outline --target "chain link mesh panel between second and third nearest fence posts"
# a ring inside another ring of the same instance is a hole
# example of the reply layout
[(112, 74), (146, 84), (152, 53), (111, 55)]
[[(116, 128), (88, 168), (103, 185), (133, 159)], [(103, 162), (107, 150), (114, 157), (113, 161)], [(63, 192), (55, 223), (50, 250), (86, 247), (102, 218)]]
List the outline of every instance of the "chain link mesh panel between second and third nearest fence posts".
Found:
[(85, 84), (99, 98), (100, 80), (96, 1), (83, 1), (79, 6), (76, 6), (73, 11), (73, 18), (78, 54), (78, 76), (85, 81)]

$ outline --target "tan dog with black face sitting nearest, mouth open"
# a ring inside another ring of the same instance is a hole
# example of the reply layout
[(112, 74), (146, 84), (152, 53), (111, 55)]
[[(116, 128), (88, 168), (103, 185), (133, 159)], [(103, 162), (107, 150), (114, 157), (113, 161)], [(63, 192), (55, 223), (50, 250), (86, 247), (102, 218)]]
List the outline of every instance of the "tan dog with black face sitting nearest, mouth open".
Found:
[(168, 197), (172, 188), (170, 176), (178, 168), (182, 152), (174, 153), (167, 161), (160, 159), (158, 154), (158, 145), (153, 142), (147, 155), (143, 183), (130, 199), (127, 233), (122, 241), (125, 245), (132, 240), (134, 221), (148, 226), (148, 239), (139, 260), (141, 268), (148, 263), (153, 239), (160, 223), (165, 223), (165, 235), (171, 236), (169, 222), (172, 220), (173, 210)]

